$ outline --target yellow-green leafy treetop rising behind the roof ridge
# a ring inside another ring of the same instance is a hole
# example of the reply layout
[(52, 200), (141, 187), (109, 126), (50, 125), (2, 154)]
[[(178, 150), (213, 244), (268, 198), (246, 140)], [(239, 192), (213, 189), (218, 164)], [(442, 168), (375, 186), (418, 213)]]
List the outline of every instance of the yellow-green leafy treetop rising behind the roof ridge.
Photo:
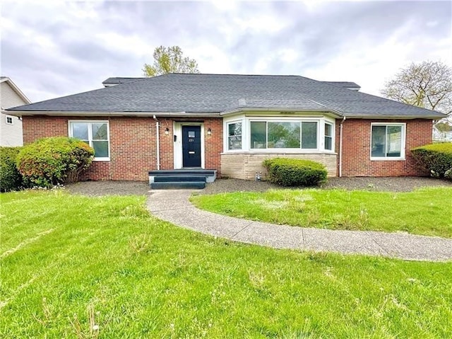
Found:
[(144, 76), (157, 76), (168, 73), (199, 73), (198, 63), (195, 59), (183, 57), (181, 47), (160, 46), (155, 48), (154, 64), (144, 64)]

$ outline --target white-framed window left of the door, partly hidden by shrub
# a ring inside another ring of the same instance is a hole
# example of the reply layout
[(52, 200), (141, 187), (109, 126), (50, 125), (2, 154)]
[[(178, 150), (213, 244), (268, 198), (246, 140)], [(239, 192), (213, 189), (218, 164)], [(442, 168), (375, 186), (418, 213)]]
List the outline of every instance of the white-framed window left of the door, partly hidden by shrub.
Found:
[(108, 122), (71, 121), (69, 136), (81, 139), (93, 147), (95, 160), (109, 160)]

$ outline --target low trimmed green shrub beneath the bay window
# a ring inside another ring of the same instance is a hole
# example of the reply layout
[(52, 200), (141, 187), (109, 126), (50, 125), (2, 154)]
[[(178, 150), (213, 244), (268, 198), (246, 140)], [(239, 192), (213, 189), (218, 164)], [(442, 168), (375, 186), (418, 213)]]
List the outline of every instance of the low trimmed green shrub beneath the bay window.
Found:
[(268, 180), (282, 186), (315, 186), (326, 181), (325, 166), (315, 161), (273, 158), (263, 161)]

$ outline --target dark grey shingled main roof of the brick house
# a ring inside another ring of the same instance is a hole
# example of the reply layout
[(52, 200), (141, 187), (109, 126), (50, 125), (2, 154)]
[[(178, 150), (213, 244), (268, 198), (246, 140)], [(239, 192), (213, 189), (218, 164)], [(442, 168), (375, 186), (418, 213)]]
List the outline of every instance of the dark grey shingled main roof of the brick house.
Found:
[(347, 117), (444, 117), (432, 110), (303, 76), (233, 74), (165, 74), (12, 110), (36, 114), (42, 111), (221, 113), (237, 108), (323, 110)]

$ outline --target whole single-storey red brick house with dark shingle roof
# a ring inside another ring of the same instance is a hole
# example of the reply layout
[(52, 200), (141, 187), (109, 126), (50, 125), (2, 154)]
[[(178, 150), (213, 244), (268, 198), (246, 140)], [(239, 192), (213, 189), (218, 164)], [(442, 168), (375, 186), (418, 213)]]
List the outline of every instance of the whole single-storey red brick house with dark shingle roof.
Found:
[(419, 176), (410, 149), (444, 114), (302, 76), (165, 74), (13, 108), (24, 142), (69, 135), (95, 149), (92, 180), (206, 168), (254, 179), (262, 161), (323, 163), (329, 176)]

